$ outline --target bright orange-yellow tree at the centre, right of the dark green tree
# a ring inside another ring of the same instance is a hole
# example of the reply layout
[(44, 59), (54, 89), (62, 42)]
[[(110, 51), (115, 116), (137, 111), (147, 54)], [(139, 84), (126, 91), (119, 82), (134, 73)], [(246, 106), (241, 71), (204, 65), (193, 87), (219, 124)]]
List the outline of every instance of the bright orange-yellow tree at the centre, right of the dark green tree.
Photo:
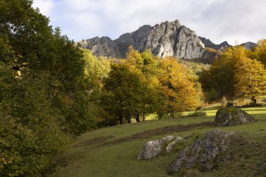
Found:
[(169, 113), (173, 117), (174, 113), (195, 108), (199, 95), (188, 71), (172, 57), (162, 59), (159, 66), (164, 98), (159, 114)]

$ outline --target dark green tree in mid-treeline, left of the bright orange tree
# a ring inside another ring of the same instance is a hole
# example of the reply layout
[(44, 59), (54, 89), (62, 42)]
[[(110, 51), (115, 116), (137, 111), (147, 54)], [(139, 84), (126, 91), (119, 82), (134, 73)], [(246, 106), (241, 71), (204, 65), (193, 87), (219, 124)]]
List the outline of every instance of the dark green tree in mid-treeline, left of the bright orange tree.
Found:
[(112, 64), (109, 77), (104, 81), (102, 106), (112, 116), (110, 125), (131, 122), (133, 115), (138, 113), (141, 102), (142, 80), (137, 71), (125, 64)]

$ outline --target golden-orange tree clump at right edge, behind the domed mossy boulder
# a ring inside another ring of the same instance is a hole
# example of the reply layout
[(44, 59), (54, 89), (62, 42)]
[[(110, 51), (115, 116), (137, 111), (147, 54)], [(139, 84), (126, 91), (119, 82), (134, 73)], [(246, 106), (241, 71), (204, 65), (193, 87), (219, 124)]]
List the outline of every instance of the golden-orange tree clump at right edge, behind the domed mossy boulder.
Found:
[(250, 58), (255, 53), (241, 46), (229, 48), (202, 73), (204, 90), (209, 93), (215, 90), (218, 98), (250, 97), (255, 104), (255, 97), (265, 94), (265, 66)]

